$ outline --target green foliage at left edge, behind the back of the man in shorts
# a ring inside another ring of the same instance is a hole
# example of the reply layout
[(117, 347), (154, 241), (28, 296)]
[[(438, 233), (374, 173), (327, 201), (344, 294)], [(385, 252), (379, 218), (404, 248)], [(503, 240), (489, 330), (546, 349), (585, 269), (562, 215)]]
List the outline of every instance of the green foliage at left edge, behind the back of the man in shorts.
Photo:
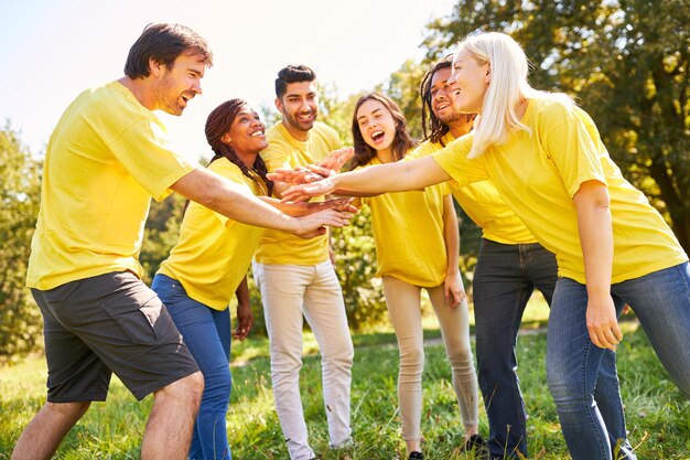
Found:
[(9, 122), (0, 129), (0, 356), (15, 360), (36, 349), (41, 313), (24, 286), (41, 199), (41, 163)]

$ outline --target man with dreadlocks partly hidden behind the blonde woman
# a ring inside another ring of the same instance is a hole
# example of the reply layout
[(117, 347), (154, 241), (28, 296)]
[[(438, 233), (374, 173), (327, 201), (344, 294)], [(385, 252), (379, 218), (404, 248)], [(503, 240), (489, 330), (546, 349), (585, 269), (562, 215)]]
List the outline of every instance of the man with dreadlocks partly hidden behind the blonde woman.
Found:
[[(452, 104), (454, 88), (448, 84), (452, 58), (435, 63), (420, 86), (422, 129), (425, 141), (408, 158), (434, 153), (470, 132), (474, 115), (459, 113)], [(517, 375), (516, 344), (522, 313), (535, 288), (551, 304), (557, 280), (553, 254), (545, 249), (522, 221), (508, 207), (490, 181), (451, 192), (465, 213), (483, 231), (482, 247), (473, 278), (476, 355), (479, 388), (488, 416), (487, 447), (492, 459), (527, 457), (527, 416)], [(618, 395), (615, 355), (605, 355), (597, 383), (597, 404), (606, 426), (626, 439), (625, 420), (610, 399)], [(481, 443), (471, 438), (467, 447)]]

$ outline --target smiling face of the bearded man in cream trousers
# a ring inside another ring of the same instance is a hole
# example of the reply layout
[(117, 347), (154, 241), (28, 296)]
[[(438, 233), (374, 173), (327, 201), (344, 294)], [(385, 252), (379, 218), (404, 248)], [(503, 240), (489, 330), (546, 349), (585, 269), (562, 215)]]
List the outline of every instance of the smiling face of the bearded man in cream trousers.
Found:
[(285, 94), (276, 99), (288, 131), (299, 140), (306, 140), (319, 115), (316, 82), (289, 83)]

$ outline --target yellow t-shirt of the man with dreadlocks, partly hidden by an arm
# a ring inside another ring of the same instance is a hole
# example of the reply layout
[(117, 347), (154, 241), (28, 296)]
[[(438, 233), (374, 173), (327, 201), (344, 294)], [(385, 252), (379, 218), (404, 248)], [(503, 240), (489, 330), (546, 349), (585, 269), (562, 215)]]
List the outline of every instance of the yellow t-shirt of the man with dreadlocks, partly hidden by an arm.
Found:
[[(442, 140), (448, 146), (455, 138), (449, 131)], [(406, 160), (427, 157), (442, 148), (441, 143), (425, 141), (410, 152)], [(463, 188), (459, 188), (453, 181), (446, 184), (470, 218), (482, 227), (486, 239), (508, 245), (537, 242), (520, 217), (500, 197), (492, 181), (475, 182)]]

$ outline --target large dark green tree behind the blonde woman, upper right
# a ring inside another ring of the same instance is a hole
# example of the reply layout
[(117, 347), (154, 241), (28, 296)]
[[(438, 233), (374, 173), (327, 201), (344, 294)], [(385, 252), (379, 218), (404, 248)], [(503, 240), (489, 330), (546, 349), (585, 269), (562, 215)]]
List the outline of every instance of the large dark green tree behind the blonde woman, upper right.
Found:
[(690, 252), (690, 3), (459, 0), (431, 22), (428, 57), (478, 31), (510, 33), (535, 87), (575, 96), (611, 156)]

